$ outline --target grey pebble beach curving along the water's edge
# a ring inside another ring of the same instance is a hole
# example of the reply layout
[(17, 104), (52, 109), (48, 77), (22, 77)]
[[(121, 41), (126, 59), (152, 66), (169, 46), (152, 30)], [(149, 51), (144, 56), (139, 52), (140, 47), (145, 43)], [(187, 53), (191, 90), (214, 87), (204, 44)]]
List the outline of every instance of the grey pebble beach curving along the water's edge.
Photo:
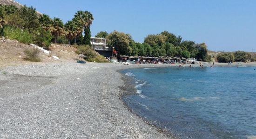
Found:
[(120, 99), (124, 81), (117, 70), (145, 66), (152, 65), (60, 62), (2, 68), (0, 138), (173, 138)]

